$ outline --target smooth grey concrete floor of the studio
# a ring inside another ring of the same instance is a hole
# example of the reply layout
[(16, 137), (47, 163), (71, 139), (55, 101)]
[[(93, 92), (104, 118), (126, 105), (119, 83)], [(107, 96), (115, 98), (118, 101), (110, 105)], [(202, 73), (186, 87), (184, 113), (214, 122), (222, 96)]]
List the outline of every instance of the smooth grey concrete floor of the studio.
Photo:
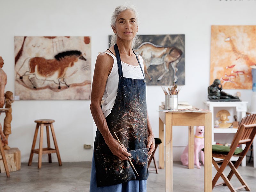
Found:
[[(180, 162), (173, 164), (173, 190), (175, 192), (203, 192), (204, 191), (204, 167), (201, 169), (187, 169)], [(153, 166), (153, 163), (150, 167)], [(256, 192), (256, 169), (252, 163), (246, 167), (239, 167), (239, 172), (253, 192)], [(212, 174), (216, 170), (212, 168)], [(89, 192), (91, 174), (91, 162), (43, 163), (42, 169), (37, 169), (37, 164), (28, 166), (21, 164), (21, 170), (11, 172), (11, 177), (6, 178), (5, 173), (0, 173), (0, 192)], [(221, 179), (220, 179), (221, 180)], [(238, 187), (235, 176), (231, 183)], [(159, 170), (159, 174), (150, 171), (147, 181), (147, 192), (165, 191), (165, 171)], [(226, 186), (219, 186), (213, 192), (229, 191)], [(244, 189), (239, 191), (245, 191)]]

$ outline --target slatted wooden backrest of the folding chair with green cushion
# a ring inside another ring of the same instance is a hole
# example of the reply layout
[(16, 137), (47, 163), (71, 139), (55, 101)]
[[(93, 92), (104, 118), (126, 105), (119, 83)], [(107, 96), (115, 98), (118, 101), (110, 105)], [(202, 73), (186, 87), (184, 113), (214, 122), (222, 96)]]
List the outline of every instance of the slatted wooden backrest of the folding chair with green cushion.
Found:
[(236, 135), (230, 146), (230, 152), (231, 151), (234, 152), (236, 150), (237, 145), (246, 144), (246, 147), (244, 148), (241, 154), (242, 156), (246, 155), (250, 146), (252, 145), (255, 134), (256, 134), (256, 114), (247, 115), (241, 120), (241, 123), (239, 124)]

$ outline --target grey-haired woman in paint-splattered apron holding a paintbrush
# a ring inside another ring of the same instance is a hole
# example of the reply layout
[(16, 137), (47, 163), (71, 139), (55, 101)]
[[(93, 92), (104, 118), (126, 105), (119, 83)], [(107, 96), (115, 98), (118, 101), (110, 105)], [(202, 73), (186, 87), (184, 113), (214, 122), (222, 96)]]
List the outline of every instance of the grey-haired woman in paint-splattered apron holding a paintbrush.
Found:
[[(91, 192), (147, 190), (148, 157), (155, 144), (146, 108), (143, 59), (132, 50), (138, 39), (137, 15), (133, 6), (115, 9), (111, 18), (114, 32), (111, 47), (96, 60), (90, 108), (98, 129), (92, 159)], [(128, 157), (139, 176), (129, 164)]]

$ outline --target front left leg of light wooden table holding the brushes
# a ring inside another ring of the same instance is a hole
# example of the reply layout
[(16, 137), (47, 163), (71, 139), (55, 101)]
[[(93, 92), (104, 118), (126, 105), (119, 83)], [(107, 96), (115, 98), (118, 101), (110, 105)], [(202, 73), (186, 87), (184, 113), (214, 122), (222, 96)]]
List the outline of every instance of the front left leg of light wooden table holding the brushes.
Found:
[(172, 113), (165, 113), (165, 191), (173, 191)]

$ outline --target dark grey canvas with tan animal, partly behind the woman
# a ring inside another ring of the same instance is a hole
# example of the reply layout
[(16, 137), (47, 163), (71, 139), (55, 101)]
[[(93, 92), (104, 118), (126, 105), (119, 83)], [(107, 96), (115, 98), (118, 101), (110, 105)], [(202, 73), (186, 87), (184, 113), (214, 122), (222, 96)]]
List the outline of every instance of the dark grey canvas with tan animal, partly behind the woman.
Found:
[(147, 85), (184, 85), (185, 35), (139, 35), (139, 39), (134, 52), (145, 61)]

